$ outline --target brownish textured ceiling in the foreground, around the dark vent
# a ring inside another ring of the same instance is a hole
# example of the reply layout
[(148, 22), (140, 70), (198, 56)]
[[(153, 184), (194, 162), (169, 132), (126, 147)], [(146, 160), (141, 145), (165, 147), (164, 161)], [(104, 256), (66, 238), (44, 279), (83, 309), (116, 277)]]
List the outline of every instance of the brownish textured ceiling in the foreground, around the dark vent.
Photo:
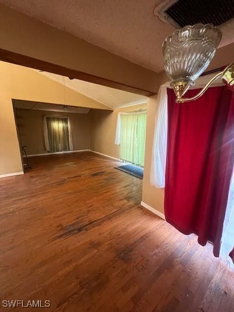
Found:
[[(175, 30), (155, 16), (165, 0), (0, 2), (156, 72), (163, 70), (162, 43)], [(221, 29), (220, 46), (233, 42), (234, 21)]]

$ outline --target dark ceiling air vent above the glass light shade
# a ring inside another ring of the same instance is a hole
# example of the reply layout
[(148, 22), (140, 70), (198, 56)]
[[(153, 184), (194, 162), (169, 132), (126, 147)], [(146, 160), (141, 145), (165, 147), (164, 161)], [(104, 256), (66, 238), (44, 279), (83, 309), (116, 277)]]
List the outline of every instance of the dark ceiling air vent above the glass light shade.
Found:
[(171, 0), (155, 8), (157, 16), (177, 27), (197, 23), (219, 26), (234, 18), (234, 0)]

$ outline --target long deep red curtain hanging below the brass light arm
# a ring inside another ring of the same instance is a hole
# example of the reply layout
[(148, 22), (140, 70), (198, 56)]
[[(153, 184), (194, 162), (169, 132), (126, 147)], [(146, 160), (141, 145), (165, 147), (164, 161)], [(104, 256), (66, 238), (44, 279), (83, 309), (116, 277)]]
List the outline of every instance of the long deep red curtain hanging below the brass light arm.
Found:
[(166, 220), (183, 234), (197, 234), (203, 246), (213, 242), (218, 256), (234, 166), (234, 93), (213, 87), (184, 104), (172, 89), (167, 93)]

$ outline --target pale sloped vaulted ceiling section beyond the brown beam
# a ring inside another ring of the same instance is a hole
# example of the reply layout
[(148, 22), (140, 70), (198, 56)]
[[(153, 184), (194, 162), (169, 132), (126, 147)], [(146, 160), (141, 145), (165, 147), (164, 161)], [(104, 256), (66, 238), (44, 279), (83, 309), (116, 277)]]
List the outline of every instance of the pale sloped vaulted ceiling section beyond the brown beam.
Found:
[(82, 93), (89, 98), (93, 98), (96, 101), (105, 104), (106, 106), (109, 106), (113, 109), (147, 102), (146, 97), (134, 93), (109, 88), (106, 86), (102, 86), (99, 84), (83, 80), (78, 79), (70, 80), (67, 77), (63, 77), (52, 73), (40, 72), (38, 70), (36, 71), (43, 76), (46, 76), (61, 84), (64, 84), (66, 87), (71, 88), (79, 93)]

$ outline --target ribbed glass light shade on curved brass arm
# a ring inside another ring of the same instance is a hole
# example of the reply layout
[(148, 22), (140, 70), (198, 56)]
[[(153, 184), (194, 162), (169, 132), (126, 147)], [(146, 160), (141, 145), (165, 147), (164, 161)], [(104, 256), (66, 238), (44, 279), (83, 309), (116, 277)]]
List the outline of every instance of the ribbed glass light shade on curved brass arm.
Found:
[(194, 80), (209, 66), (221, 38), (221, 31), (214, 25), (195, 24), (176, 30), (172, 36), (165, 39), (162, 46), (164, 67), (172, 79), (171, 86), (176, 93), (177, 103), (199, 98), (219, 77), (234, 90), (234, 63), (232, 63), (215, 75), (195, 97), (182, 98), (194, 85)]

